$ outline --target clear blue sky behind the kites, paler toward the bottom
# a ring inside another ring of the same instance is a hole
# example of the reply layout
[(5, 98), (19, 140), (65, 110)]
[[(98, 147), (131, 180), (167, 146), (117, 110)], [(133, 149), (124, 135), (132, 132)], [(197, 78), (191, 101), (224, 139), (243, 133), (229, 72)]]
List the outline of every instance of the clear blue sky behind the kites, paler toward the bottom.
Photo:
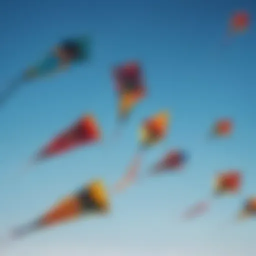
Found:
[[(251, 29), (224, 44), (228, 18), (237, 9), (251, 13)], [(24, 86), (0, 109), (3, 235), (92, 178), (110, 186), (135, 152), (139, 123), (158, 110), (172, 115), (169, 136), (147, 152), (141, 171), (167, 149), (190, 154), (183, 172), (144, 180), (112, 198), (108, 217), (36, 233), (6, 255), (254, 255), (255, 223), (226, 223), (256, 193), (255, 13), (254, 0), (1, 0), (2, 85), (59, 40), (82, 33), (92, 40), (88, 63)], [(133, 59), (143, 65), (148, 96), (120, 141), (74, 150), (14, 180), (18, 166), (82, 113), (95, 114), (105, 138), (110, 136), (116, 110), (111, 67)], [(234, 118), (233, 137), (207, 140), (212, 122), (222, 116)], [(181, 222), (179, 214), (210, 193), (212, 174), (226, 168), (244, 171), (242, 193)]]

